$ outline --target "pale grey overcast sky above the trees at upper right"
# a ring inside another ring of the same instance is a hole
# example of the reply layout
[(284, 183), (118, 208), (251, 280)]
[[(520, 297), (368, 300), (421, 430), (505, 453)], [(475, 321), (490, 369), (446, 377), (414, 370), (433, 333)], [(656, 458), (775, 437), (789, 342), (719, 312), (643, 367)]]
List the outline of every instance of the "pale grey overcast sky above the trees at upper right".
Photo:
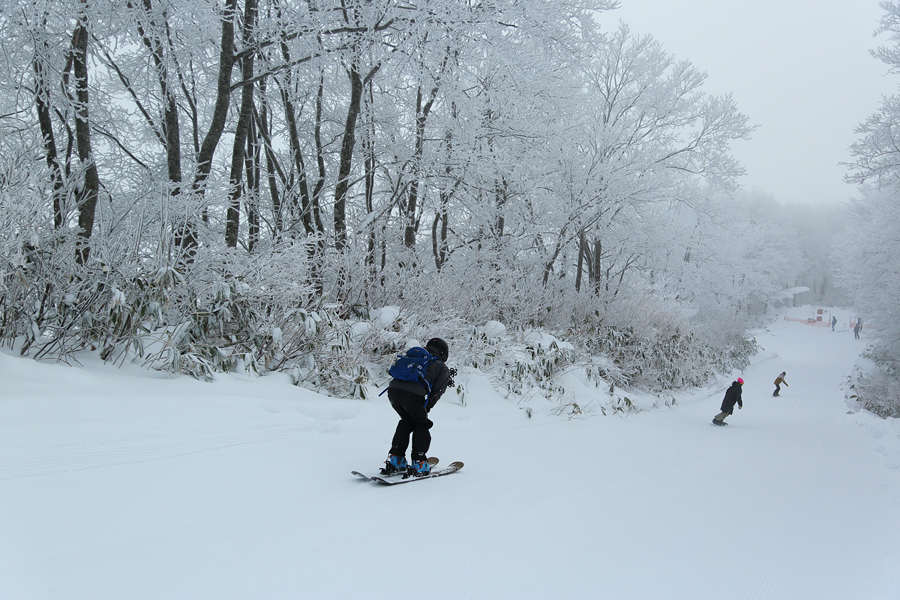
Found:
[(900, 76), (870, 49), (883, 11), (878, 0), (620, 0), (601, 15), (649, 33), (709, 75), (705, 89), (732, 93), (759, 125), (733, 146), (748, 171), (742, 184), (781, 202), (842, 202), (854, 128), (893, 94)]

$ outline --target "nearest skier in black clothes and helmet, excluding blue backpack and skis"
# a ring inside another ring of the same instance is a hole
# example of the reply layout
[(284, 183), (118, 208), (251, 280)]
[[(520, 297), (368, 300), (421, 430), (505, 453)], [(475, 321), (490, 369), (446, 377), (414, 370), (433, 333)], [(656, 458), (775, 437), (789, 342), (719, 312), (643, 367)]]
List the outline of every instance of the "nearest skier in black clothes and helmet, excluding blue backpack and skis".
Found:
[[(450, 348), (441, 338), (432, 338), (425, 344), (425, 349), (437, 359), (428, 365), (425, 372), (425, 378), (431, 384), (430, 392), (424, 384), (415, 381), (391, 379), (388, 384), (388, 400), (400, 415), (400, 422), (397, 423), (397, 430), (391, 440), (391, 450), (385, 461), (388, 472), (406, 470), (407, 467), (412, 467), (418, 475), (426, 475), (431, 471), (427, 452), (431, 446), (429, 430), (434, 423), (428, 418), (428, 413), (441, 399), (450, 381), (450, 369), (445, 364)], [(410, 435), (412, 459), (407, 463), (406, 449), (409, 447)]]

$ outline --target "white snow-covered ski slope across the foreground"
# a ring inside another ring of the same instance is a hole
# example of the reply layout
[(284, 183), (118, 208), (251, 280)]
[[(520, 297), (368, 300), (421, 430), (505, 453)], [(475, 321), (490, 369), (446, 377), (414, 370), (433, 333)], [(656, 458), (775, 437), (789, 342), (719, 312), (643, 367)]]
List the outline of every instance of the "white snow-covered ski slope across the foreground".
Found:
[(727, 428), (728, 381), (567, 419), (470, 379), (431, 414), (465, 468), (397, 487), (350, 474), (384, 396), (0, 354), (0, 599), (900, 598), (900, 423), (844, 400), (838, 316), (759, 333)]

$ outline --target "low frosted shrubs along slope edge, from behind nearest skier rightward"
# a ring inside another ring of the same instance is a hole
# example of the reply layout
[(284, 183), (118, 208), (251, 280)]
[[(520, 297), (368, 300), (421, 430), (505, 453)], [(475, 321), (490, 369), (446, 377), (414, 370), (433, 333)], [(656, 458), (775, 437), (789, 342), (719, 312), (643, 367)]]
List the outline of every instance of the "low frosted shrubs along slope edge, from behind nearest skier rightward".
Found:
[[(368, 355), (374, 363), (372, 381), (378, 385), (387, 381), (392, 350), (402, 350), (409, 340), (424, 343), (438, 335), (450, 342), (453, 364), (485, 373), (496, 389), (520, 401), (542, 397), (560, 406), (572, 404), (563, 383), (567, 373), (582, 373), (584, 383), (603, 390), (638, 387), (661, 392), (704, 385), (717, 372), (746, 366), (756, 351), (752, 339), (736, 334), (702, 336), (698, 331), (705, 325), (672, 301), (611, 301), (601, 308), (594, 299), (589, 312), (591, 302), (586, 296), (582, 299), (583, 304), (567, 307), (565, 300), (553, 300), (558, 307), (547, 313), (545, 322), (554, 326), (535, 328), (533, 312), (524, 322), (474, 320), (452, 309), (442, 312), (432, 304), (403, 298), (390, 311), (374, 311), (365, 337), (357, 337), (355, 343), (372, 349)], [(354, 356), (365, 359), (366, 354)], [(614, 393), (609, 406), (601, 407), (612, 412), (633, 409)], [(571, 413), (567, 411), (563, 412)]]

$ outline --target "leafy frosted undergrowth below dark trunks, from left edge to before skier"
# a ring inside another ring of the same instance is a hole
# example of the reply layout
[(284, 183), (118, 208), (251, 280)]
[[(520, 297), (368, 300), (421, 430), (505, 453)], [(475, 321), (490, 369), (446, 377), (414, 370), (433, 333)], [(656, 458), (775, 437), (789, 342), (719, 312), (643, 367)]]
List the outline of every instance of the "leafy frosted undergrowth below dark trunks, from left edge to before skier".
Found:
[(327, 312), (317, 309), (303, 243), (201, 250), (178, 266), (103, 249), (83, 266), (49, 245), (20, 243), (2, 257), (3, 337), (37, 358), (95, 349), (206, 379), (263, 372), (311, 352)]

